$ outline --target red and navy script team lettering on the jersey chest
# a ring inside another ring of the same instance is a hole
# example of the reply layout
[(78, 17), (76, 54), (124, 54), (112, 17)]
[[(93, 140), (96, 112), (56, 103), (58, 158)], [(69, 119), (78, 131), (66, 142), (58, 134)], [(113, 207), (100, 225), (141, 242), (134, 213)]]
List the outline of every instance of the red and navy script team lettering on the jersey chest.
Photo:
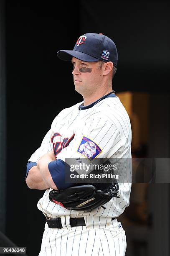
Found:
[(75, 133), (71, 136), (71, 138), (63, 138), (63, 141), (61, 141), (61, 134), (54, 133), (54, 135), (51, 137), (51, 143), (53, 143), (53, 151), (55, 156), (57, 156), (63, 148), (69, 146), (70, 142), (74, 139), (74, 136)]

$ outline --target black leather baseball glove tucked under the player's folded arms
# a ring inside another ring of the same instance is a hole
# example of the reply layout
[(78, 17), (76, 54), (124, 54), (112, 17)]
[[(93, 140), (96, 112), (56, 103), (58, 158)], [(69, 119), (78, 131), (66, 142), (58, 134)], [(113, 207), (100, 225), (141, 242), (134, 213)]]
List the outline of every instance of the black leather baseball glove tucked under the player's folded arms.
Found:
[(93, 185), (86, 184), (63, 190), (51, 190), (49, 199), (51, 202), (61, 205), (66, 209), (86, 212), (101, 207), (109, 202), (112, 197), (118, 197), (118, 190), (118, 183), (110, 185), (104, 191), (96, 189)]

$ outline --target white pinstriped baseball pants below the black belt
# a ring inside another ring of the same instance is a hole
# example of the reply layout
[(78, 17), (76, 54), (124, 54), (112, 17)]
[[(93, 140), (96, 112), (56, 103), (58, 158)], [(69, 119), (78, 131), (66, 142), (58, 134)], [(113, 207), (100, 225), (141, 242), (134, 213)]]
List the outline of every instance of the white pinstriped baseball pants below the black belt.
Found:
[(39, 256), (125, 255), (126, 236), (117, 219), (96, 216), (84, 219), (86, 226), (73, 228), (48, 228), (46, 223)]

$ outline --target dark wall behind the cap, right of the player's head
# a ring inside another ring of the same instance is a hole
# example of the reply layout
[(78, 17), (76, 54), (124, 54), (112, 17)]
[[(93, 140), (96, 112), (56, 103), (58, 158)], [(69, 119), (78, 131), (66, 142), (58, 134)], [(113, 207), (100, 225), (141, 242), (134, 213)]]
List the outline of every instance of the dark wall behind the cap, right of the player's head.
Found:
[(117, 46), (114, 90), (159, 92), (170, 67), (168, 1), (81, 0), (81, 34), (103, 33)]

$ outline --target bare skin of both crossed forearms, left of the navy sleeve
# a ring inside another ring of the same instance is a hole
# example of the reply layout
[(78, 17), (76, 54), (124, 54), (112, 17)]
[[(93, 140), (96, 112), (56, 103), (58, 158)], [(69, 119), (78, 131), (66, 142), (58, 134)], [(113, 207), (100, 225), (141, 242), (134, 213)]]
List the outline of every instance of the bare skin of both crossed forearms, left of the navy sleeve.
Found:
[(26, 184), (30, 189), (43, 190), (52, 188), (58, 190), (48, 170), (48, 164), (54, 160), (56, 160), (54, 152), (50, 151), (41, 156), (37, 162), (37, 166), (30, 168), (26, 178)]

